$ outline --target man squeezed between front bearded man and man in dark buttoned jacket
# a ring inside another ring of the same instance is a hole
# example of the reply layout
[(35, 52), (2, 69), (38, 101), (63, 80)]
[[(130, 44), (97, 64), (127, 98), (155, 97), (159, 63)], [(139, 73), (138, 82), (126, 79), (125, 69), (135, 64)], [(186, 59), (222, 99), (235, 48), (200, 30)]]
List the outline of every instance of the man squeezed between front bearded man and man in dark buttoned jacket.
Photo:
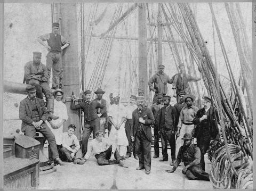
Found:
[(151, 111), (154, 114), (155, 118), (155, 124), (154, 124), (154, 151), (155, 155), (153, 158), (159, 157), (159, 128), (158, 128), (158, 121), (159, 121), (159, 112), (160, 109), (164, 106), (162, 101), (163, 101), (163, 94), (157, 94), (156, 95), (157, 101), (153, 105), (151, 105)]

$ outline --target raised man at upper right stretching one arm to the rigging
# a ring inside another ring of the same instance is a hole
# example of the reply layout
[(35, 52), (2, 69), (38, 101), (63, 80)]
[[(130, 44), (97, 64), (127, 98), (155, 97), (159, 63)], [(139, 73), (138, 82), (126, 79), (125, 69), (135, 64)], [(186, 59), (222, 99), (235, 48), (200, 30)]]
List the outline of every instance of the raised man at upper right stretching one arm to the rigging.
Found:
[[(177, 97), (180, 91), (185, 91), (188, 93), (188, 82), (189, 81), (198, 81), (201, 80), (201, 77), (194, 77), (189, 74), (186, 74), (185, 65), (183, 63), (179, 64), (180, 72), (175, 74), (172, 78), (173, 84), (173, 97)], [(177, 102), (179, 102), (179, 97), (177, 97)]]

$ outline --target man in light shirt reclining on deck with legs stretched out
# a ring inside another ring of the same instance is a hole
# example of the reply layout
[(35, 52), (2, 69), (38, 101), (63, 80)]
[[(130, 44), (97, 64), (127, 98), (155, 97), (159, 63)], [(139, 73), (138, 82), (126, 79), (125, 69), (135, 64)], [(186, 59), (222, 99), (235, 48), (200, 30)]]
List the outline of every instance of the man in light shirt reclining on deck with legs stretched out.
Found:
[(84, 159), (88, 160), (91, 153), (93, 153), (99, 165), (119, 163), (119, 166), (128, 168), (125, 167), (122, 157), (116, 150), (116, 145), (111, 145), (109, 140), (103, 137), (103, 132), (101, 130), (96, 131), (95, 135), (96, 138), (88, 145)]

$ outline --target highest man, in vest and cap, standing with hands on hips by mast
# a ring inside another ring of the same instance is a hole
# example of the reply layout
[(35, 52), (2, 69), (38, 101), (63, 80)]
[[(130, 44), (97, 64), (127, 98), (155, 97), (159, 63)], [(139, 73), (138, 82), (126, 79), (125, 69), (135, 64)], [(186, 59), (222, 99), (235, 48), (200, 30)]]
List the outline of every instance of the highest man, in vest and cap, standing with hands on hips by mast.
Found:
[[(52, 32), (37, 38), (38, 42), (42, 44), (48, 50), (46, 56), (46, 68), (50, 80), (51, 69), (53, 73), (52, 77), (52, 89), (60, 88), (60, 72), (61, 72), (61, 51), (67, 48), (70, 43), (62, 35), (59, 35), (60, 24), (58, 22), (52, 23)], [(47, 45), (44, 43), (47, 41)]]

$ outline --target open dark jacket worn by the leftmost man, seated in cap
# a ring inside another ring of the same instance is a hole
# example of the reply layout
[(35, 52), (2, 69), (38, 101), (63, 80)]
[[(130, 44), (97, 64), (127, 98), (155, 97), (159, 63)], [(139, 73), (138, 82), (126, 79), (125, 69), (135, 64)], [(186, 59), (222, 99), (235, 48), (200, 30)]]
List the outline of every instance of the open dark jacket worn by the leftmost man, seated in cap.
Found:
[[(37, 97), (35, 98), (35, 101), (36, 101), (36, 107), (39, 113), (39, 118), (40, 120), (42, 119), (45, 122), (47, 118), (47, 110), (44, 105), (44, 101), (43, 99), (40, 99)], [(19, 118), (22, 121), (21, 123), (22, 132), (25, 132), (26, 127), (31, 126), (32, 123), (34, 122), (32, 117), (32, 107), (33, 107), (33, 104), (31, 103), (28, 97), (26, 97), (20, 102)]]

